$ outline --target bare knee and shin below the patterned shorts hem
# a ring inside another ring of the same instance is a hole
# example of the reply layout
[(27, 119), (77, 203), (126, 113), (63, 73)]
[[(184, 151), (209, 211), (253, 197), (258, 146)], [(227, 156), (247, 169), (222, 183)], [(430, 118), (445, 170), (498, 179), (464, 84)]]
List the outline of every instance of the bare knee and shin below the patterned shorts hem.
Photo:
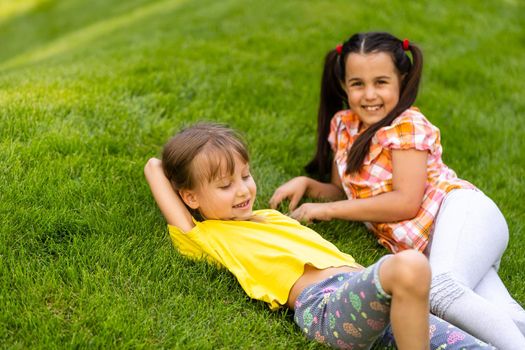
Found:
[(430, 269), (425, 256), (410, 250), (398, 253), (381, 265), (379, 279), (392, 295), (390, 322), (397, 346), (428, 349)]

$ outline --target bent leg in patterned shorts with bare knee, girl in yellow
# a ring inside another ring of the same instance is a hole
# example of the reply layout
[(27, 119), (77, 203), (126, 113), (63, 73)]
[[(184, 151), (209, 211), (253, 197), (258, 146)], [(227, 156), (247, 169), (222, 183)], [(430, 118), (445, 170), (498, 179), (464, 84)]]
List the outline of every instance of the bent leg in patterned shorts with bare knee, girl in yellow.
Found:
[(383, 335), (392, 309), (398, 348), (429, 349), (429, 285), (425, 256), (401, 252), (308, 287), (297, 298), (294, 319), (311, 339), (338, 348), (369, 348)]

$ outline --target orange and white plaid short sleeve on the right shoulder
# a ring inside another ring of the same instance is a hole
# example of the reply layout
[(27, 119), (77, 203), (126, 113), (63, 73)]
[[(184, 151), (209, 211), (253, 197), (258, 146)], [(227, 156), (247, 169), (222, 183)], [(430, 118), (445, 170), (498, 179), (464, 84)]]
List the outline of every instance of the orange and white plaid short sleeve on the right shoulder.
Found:
[(439, 129), (422, 114), (407, 111), (395, 119), (392, 125), (379, 129), (376, 138), (384, 148), (434, 153), (439, 146)]

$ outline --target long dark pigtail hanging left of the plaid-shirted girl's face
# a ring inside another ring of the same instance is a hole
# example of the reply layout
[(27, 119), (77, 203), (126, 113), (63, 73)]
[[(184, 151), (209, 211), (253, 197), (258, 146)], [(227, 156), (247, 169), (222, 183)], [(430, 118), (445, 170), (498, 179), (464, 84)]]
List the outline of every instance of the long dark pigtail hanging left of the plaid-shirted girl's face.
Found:
[(342, 57), (336, 50), (329, 51), (325, 57), (317, 111), (317, 150), (305, 166), (307, 173), (317, 174), (320, 179), (328, 178), (331, 172), (331, 149), (327, 141), (330, 121), (335, 113), (344, 108), (346, 101), (346, 93), (341, 86), (340, 59)]

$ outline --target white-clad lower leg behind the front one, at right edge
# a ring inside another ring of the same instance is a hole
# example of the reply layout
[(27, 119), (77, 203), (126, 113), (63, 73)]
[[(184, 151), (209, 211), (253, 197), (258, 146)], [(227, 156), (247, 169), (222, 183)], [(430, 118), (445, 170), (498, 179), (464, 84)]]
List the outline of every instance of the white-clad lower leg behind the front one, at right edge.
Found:
[(525, 335), (525, 310), (510, 296), (495, 268), (489, 270), (474, 292), (505, 310)]

